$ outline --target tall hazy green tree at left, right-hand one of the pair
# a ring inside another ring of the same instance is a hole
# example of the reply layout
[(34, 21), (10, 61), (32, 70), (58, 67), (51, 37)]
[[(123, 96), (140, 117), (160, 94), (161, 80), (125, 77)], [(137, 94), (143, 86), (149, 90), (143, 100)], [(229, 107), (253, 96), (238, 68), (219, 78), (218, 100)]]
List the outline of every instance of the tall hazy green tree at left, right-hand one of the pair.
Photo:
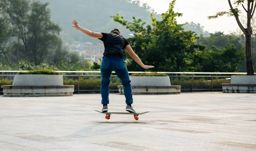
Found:
[(53, 23), (50, 18), (50, 10), (47, 8), (49, 3), (39, 1), (31, 4), (31, 14), (29, 16), (29, 31), (32, 31), (33, 38), (33, 56), (35, 65), (43, 62), (43, 59), (49, 54), (48, 50), (55, 48), (61, 28)]

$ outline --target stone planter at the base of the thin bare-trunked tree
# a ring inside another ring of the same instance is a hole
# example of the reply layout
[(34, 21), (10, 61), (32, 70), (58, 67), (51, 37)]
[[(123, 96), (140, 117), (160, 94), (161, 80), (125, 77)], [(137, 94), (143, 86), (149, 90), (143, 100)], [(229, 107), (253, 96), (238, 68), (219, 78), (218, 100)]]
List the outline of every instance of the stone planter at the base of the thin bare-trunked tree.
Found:
[(232, 76), (230, 84), (222, 84), (224, 93), (256, 93), (256, 76)]

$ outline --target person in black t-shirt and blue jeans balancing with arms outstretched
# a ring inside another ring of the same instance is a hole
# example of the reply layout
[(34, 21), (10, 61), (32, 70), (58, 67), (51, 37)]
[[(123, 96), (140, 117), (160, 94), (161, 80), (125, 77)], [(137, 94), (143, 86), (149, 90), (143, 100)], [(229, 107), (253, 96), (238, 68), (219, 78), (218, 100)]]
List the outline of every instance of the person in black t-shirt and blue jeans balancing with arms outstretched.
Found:
[(140, 64), (144, 69), (153, 68), (154, 66), (144, 65), (141, 62), (140, 58), (131, 48), (129, 42), (120, 35), (119, 29), (113, 29), (110, 33), (96, 33), (89, 31), (87, 29), (81, 28), (79, 23), (76, 20), (73, 20), (73, 27), (78, 29), (79, 31), (91, 36), (93, 38), (98, 38), (102, 40), (104, 43), (104, 53), (101, 64), (101, 96), (102, 96), (102, 112), (108, 112), (108, 104), (109, 104), (109, 84), (110, 77), (112, 71), (115, 71), (116, 75), (122, 82), (124, 95), (125, 95), (125, 103), (126, 111), (131, 113), (136, 113), (131, 104), (133, 103), (132, 98), (132, 89), (131, 89), (131, 80), (129, 78), (128, 70), (125, 65), (125, 50), (129, 53), (129, 55), (134, 59), (135, 62)]

